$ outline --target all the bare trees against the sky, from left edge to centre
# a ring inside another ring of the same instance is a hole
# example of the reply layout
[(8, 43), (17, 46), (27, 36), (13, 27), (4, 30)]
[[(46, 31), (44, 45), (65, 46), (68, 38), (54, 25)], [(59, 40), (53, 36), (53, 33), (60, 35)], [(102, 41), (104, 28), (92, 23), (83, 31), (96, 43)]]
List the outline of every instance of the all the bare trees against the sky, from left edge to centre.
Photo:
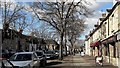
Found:
[[(28, 3), (28, 9), (21, 3), (0, 2), (0, 4), (2, 6), (3, 29), (25, 29), (34, 32), (37, 37), (58, 40), (60, 42), (60, 59), (63, 58), (63, 47), (67, 55), (67, 41), (71, 43), (72, 50), (74, 50), (76, 40), (84, 31), (85, 18), (92, 14), (92, 11), (86, 7), (88, 3), (85, 0), (78, 2), (74, 2), (74, 0), (70, 2), (69, 0), (38, 1)], [(29, 15), (30, 13), (32, 14)], [(36, 22), (39, 27), (33, 26)]]

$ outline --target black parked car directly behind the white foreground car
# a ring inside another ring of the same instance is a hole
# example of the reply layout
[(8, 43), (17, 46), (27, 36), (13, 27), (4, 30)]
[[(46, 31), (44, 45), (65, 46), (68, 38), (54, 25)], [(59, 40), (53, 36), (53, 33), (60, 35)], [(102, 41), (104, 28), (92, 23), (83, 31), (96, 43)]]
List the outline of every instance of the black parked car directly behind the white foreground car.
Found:
[(35, 51), (35, 52), (40, 59), (40, 65), (45, 66), (47, 63), (47, 59), (46, 59), (44, 51)]

